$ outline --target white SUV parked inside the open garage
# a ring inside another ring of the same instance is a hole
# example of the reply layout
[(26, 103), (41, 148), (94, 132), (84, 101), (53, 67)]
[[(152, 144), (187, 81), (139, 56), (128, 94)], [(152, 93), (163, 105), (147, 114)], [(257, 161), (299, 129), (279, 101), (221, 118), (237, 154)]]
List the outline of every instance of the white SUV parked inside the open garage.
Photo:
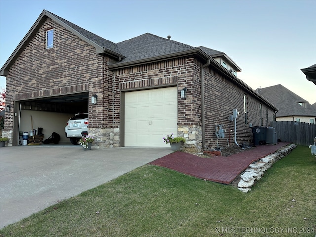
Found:
[(69, 137), (72, 144), (77, 145), (82, 136), (88, 135), (88, 117), (88, 113), (79, 113), (68, 120), (65, 135)]

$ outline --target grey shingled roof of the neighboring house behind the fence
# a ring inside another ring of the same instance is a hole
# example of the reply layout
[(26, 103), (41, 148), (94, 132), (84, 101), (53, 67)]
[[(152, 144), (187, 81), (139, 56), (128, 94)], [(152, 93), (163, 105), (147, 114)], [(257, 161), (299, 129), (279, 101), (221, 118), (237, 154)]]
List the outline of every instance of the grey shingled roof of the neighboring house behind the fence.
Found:
[[(302, 97), (282, 85), (274, 85), (256, 89), (270, 103), (278, 108), (276, 117), (284, 116), (316, 116), (316, 110)], [(306, 103), (306, 108), (298, 103)]]

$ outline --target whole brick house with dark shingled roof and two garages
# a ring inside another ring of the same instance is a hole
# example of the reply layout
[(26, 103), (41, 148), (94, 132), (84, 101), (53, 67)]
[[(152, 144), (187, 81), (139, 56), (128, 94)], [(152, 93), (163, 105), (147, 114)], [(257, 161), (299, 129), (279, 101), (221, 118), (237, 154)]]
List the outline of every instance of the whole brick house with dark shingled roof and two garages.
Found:
[(45, 138), (64, 137), (68, 119), (88, 112), (95, 148), (168, 146), (162, 137), (174, 133), (201, 150), (234, 145), (237, 109), (236, 140), (249, 142), (251, 125), (267, 125), (277, 109), (240, 71), (223, 52), (149, 33), (113, 43), (43, 10), (0, 71), (11, 106), (3, 133), (18, 145), (32, 114)]

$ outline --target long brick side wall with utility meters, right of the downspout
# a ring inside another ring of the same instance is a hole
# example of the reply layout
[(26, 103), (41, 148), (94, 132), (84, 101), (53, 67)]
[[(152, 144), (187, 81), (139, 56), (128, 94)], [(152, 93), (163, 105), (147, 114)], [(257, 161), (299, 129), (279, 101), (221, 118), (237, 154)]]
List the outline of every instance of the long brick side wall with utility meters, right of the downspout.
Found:
[[(236, 141), (238, 144), (253, 141), (252, 126), (260, 126), (260, 104), (262, 102), (255, 99), (242, 88), (237, 86), (231, 79), (225, 78), (217, 70), (209, 66), (205, 71), (205, 112), (206, 112), (206, 145), (208, 147), (233, 145), (234, 142), (234, 122), (228, 121), (232, 110), (239, 112), (236, 118)], [(245, 124), (244, 95), (247, 104), (247, 124)], [(263, 126), (266, 120), (273, 120), (274, 111), (262, 105)], [(268, 112), (268, 113), (267, 113)], [(226, 129), (225, 138), (217, 139), (215, 126), (223, 124)]]

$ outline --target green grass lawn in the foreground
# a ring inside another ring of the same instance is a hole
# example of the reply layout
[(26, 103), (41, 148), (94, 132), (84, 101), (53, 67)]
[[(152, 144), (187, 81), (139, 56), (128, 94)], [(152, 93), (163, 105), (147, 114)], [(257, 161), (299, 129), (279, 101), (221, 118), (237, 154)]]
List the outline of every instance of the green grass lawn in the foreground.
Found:
[(249, 193), (144, 165), (0, 230), (0, 237), (316, 235), (316, 159), (297, 146)]

